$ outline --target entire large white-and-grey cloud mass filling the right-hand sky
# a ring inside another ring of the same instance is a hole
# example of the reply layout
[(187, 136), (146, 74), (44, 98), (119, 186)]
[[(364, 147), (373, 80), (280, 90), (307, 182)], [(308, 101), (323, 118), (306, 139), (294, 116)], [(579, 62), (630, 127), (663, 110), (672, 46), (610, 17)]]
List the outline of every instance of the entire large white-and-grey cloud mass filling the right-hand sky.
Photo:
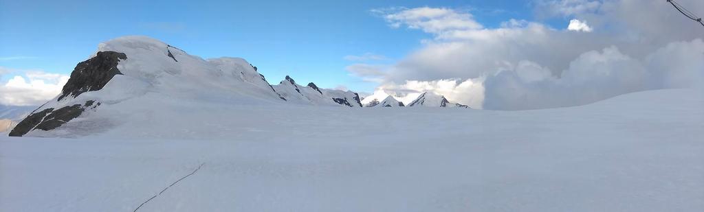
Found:
[[(534, 6), (545, 17), (573, 20), (572, 27), (512, 19), (495, 28), (479, 23), (457, 27), (456, 20), (442, 23), (448, 19), (443, 14), (465, 21), (474, 21), (473, 16), (451, 8), (384, 11), (382, 18), (391, 27), (419, 29), (434, 39), (421, 41), (421, 48), (381, 72), (367, 69), (356, 76), (375, 76), (385, 91), (433, 91), (490, 110), (583, 105), (704, 82), (700, 28), (662, 2), (562, 0), (536, 1)], [(704, 1), (691, 2), (691, 7), (704, 8)]]

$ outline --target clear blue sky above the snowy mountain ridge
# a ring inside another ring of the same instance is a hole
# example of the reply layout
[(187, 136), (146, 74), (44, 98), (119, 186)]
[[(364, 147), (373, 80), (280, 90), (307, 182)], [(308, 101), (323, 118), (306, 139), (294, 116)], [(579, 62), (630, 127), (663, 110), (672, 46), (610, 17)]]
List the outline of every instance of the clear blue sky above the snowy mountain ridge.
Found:
[[(389, 27), (375, 8), (430, 6), (469, 11), (485, 27), (532, 20), (528, 1), (8, 1), (0, 0), (0, 67), (70, 74), (96, 45), (146, 35), (203, 58), (241, 57), (270, 83), (290, 74), (322, 87), (372, 91), (350, 76), (346, 55), (393, 63), (432, 35)], [(562, 24), (562, 23), (560, 23)], [(13, 74), (5, 74), (7, 81)]]

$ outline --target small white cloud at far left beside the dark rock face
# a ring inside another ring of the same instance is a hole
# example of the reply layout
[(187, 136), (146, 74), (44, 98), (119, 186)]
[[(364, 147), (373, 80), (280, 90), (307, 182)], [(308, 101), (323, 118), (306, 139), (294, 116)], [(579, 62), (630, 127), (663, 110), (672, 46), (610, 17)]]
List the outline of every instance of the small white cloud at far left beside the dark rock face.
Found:
[[(0, 74), (10, 69), (0, 67)], [(0, 105), (41, 105), (61, 93), (68, 75), (26, 71), (0, 84)]]

